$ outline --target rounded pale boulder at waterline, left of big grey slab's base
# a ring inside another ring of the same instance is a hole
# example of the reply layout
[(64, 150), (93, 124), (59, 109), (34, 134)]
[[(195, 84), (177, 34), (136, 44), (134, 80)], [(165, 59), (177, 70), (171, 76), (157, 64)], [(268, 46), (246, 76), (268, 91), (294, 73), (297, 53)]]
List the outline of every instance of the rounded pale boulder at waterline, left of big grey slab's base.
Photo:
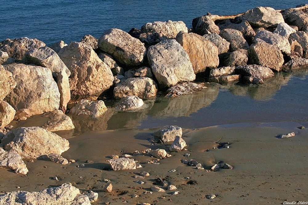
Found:
[(141, 99), (147, 99), (156, 96), (156, 92), (155, 81), (145, 77), (129, 78), (118, 84), (113, 90), (116, 98), (138, 96)]

